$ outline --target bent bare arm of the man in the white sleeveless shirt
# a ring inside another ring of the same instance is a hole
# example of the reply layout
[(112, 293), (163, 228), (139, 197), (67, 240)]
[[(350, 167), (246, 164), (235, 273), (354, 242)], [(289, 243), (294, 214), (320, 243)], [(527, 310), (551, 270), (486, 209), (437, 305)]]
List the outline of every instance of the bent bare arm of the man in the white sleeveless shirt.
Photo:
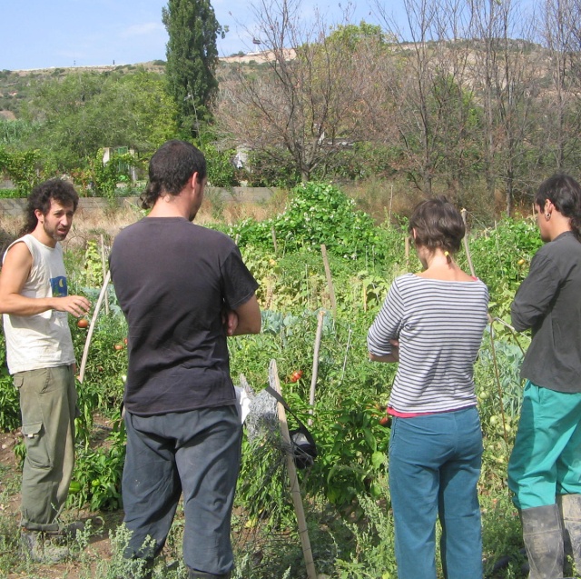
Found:
[(89, 311), (91, 304), (82, 295), (42, 298), (22, 295), (32, 265), (32, 255), (24, 243), (10, 248), (0, 274), (0, 314), (35, 315), (57, 310), (79, 317)]

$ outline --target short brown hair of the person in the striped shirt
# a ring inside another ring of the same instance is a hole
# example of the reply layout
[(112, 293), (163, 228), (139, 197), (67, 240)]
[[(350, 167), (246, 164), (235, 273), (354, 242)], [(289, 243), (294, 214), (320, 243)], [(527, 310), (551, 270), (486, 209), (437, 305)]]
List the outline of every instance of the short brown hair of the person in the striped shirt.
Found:
[(416, 245), (435, 250), (440, 247), (450, 254), (460, 249), (466, 226), (458, 209), (444, 196), (420, 203), (409, 218), (409, 233), (416, 230)]

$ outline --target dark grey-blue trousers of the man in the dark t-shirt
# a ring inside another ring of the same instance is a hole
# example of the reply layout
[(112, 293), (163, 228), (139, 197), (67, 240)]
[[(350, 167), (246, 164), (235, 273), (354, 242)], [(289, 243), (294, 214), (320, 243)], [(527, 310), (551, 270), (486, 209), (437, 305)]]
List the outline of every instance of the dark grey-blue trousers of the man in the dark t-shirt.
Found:
[[(241, 423), (235, 406), (157, 416), (125, 414), (124, 522), (127, 557), (162, 550), (183, 493), (183, 559), (191, 569), (227, 574), (233, 566), (231, 509), (240, 468)], [(153, 548), (143, 549), (147, 537)]]

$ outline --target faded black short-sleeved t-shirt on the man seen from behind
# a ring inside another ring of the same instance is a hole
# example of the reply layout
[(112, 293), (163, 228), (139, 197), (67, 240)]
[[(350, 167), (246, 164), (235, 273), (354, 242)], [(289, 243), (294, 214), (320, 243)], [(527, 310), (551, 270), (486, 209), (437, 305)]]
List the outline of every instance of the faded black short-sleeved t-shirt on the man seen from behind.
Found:
[(258, 284), (231, 239), (181, 217), (145, 217), (115, 237), (110, 267), (129, 325), (127, 410), (235, 404), (222, 309)]

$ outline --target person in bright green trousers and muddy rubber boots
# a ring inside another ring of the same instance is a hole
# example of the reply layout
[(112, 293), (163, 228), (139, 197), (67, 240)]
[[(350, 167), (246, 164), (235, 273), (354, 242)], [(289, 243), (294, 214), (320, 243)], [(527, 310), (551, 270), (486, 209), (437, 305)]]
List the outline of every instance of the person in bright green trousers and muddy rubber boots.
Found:
[(581, 572), (581, 186), (554, 175), (539, 186), (535, 208), (546, 245), (511, 306), (513, 326), (531, 328), (532, 342), (508, 485), (530, 579), (556, 579), (564, 544)]

